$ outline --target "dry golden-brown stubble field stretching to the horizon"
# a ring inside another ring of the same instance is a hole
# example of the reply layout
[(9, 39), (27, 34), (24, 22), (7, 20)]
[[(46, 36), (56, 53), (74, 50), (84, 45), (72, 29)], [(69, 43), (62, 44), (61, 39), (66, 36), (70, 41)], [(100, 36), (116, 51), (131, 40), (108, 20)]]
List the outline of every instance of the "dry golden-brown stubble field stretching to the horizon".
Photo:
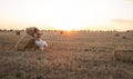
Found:
[(0, 32), (0, 79), (133, 79), (133, 63), (113, 56), (117, 47), (133, 48), (130, 34), (43, 32), (45, 51), (14, 51), (12, 46), (21, 36)]

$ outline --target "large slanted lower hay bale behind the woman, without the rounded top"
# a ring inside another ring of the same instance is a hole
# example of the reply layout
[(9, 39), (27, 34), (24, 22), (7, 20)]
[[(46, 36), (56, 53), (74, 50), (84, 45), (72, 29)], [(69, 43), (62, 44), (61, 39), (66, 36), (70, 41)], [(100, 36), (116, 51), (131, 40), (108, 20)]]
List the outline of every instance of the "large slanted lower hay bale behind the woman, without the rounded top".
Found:
[(23, 50), (37, 50), (38, 47), (34, 43), (34, 39), (31, 36), (24, 34), (17, 43), (16, 49), (18, 51)]

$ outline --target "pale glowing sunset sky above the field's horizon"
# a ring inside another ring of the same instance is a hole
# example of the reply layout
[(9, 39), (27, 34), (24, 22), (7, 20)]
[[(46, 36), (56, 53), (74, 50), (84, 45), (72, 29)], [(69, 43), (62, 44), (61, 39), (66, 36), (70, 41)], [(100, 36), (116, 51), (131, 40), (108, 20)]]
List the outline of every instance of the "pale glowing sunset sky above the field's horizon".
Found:
[(0, 29), (133, 30), (133, 0), (0, 0)]

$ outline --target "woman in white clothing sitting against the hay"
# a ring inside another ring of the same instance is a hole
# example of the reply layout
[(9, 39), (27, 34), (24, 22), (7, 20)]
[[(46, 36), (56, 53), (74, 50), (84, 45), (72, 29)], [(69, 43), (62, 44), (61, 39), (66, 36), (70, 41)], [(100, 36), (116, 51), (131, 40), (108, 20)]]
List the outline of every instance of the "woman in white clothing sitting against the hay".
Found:
[(33, 37), (35, 39), (35, 45), (39, 47), (40, 50), (44, 50), (44, 47), (48, 47), (47, 41), (41, 39), (40, 30), (38, 28), (34, 29)]

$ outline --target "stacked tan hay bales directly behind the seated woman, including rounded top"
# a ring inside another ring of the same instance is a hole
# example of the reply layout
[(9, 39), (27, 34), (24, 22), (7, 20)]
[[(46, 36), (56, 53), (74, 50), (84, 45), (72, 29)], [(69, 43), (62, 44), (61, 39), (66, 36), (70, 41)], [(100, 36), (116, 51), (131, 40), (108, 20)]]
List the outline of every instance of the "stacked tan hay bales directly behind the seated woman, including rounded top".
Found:
[(25, 29), (25, 34), (18, 41), (16, 50), (37, 50), (38, 46), (34, 43), (34, 29), (35, 27), (30, 27)]

